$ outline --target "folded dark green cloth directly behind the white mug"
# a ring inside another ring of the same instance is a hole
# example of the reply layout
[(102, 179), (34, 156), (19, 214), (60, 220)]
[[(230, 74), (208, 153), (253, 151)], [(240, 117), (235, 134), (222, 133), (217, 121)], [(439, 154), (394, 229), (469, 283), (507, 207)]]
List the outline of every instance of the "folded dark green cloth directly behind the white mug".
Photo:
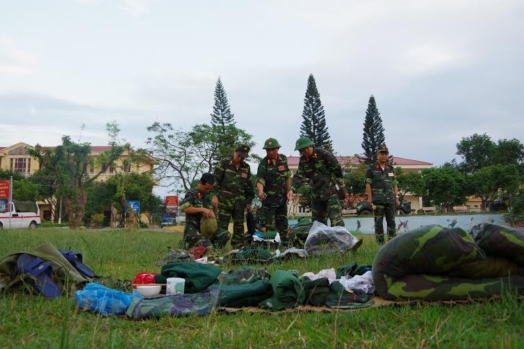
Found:
[(157, 284), (165, 284), (167, 278), (186, 279), (185, 293), (197, 293), (207, 289), (220, 275), (220, 269), (211, 264), (171, 263), (162, 267), (161, 274), (155, 275)]

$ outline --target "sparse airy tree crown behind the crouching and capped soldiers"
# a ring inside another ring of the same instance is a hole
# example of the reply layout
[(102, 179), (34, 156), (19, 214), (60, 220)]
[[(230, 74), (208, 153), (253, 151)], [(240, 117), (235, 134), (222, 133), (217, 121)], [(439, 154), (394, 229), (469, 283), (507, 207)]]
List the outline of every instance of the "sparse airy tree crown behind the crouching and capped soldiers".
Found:
[[(170, 181), (168, 185), (181, 186), (186, 191), (202, 173), (213, 171), (214, 159), (220, 153), (228, 157), (233, 155), (235, 144), (219, 144), (221, 132), (236, 139), (238, 143), (254, 145), (252, 135), (236, 126), (218, 128), (199, 124), (186, 132), (174, 130), (171, 124), (155, 122), (147, 130), (154, 135), (147, 138), (146, 144), (149, 147), (143, 149), (142, 153), (156, 160), (156, 175), (159, 179)], [(256, 155), (252, 158), (258, 159)]]

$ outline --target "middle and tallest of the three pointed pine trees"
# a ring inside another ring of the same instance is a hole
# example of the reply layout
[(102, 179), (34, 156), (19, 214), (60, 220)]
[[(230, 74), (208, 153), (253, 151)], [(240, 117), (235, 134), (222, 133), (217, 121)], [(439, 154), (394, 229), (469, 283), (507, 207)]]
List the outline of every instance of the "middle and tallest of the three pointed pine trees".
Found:
[(309, 137), (316, 146), (333, 151), (333, 144), (327, 132), (324, 107), (320, 101), (320, 94), (313, 74), (310, 74), (307, 80), (302, 118), (304, 120), (302, 126), (300, 126), (300, 136)]

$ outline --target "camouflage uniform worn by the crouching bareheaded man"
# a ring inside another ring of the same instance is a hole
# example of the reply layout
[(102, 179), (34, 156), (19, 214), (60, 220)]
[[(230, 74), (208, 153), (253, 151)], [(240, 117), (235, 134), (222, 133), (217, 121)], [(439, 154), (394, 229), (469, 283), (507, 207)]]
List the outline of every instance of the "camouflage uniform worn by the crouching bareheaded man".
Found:
[[(200, 193), (196, 187), (189, 189), (183, 198), (179, 210), (188, 207), (205, 207), (213, 210), (211, 195)], [(207, 239), (200, 234), (200, 219), (202, 219), (202, 213), (186, 214), (186, 226), (183, 228), (184, 247), (204, 246), (207, 248), (213, 247), (213, 245), (218, 248), (224, 247), (229, 239), (229, 234), (219, 229), (211, 239)]]

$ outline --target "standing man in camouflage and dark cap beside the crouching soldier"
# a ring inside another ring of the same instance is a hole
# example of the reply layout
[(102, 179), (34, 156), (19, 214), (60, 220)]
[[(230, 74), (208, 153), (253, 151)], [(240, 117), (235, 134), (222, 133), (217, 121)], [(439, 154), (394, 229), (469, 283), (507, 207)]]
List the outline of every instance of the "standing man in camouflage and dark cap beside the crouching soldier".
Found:
[(211, 203), (217, 208), (218, 227), (227, 230), (233, 216), (231, 246), (244, 244), (244, 212), (251, 210), (254, 197), (251, 169), (244, 159), (249, 155), (249, 146), (240, 144), (233, 157), (220, 161), (215, 168), (215, 187)]

